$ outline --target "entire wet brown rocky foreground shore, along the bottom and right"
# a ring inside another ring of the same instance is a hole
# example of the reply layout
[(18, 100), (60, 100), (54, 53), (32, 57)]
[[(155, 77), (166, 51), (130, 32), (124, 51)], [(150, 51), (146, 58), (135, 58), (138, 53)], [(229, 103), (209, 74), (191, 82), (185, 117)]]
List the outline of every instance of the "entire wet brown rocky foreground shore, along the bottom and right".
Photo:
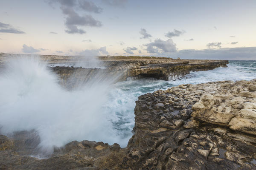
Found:
[(73, 141), (37, 159), (29, 156), (38, 140), (35, 132), (1, 135), (0, 169), (256, 169), (256, 79), (144, 94), (134, 114), (134, 135), (125, 148)]

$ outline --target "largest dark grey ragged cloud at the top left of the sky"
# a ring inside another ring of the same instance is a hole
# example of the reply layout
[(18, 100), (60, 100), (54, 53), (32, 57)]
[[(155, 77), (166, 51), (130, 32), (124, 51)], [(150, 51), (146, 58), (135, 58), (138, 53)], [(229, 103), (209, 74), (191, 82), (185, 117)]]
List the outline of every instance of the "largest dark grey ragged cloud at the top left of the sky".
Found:
[(87, 0), (48, 0), (50, 5), (52, 3), (60, 3), (61, 11), (66, 15), (65, 26), (68, 34), (85, 34), (86, 31), (79, 28), (79, 26), (101, 27), (102, 22), (95, 20), (93, 16), (84, 14), (80, 16), (76, 10), (101, 13), (102, 8), (96, 6), (93, 2)]

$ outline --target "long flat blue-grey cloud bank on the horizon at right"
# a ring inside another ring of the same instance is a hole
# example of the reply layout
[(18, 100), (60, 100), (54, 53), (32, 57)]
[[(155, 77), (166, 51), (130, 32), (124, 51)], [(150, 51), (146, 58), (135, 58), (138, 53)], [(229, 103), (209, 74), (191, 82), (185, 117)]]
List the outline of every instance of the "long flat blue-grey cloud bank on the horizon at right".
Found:
[(256, 47), (215, 48), (195, 50), (180, 50), (176, 53), (160, 54), (162, 57), (180, 57), (182, 59), (227, 59), (255, 60)]

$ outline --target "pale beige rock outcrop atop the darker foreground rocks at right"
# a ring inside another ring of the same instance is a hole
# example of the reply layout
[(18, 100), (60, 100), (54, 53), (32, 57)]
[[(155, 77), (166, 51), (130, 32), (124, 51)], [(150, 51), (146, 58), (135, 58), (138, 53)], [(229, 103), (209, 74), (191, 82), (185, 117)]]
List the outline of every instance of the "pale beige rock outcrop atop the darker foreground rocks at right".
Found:
[(256, 135), (256, 79), (221, 85), (192, 106), (192, 116), (215, 125)]

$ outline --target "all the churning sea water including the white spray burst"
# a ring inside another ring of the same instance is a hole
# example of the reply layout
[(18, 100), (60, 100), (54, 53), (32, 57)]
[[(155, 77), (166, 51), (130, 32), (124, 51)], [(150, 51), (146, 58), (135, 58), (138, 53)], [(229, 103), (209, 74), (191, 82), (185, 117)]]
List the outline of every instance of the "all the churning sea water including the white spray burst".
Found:
[(15, 131), (36, 130), (42, 153), (73, 140), (125, 147), (132, 136), (138, 96), (180, 84), (255, 79), (256, 61), (230, 61), (227, 68), (191, 72), (175, 81), (141, 79), (113, 84), (113, 78), (106, 75), (99, 83), (100, 77), (66, 91), (45, 63), (30, 58), (11, 61), (0, 72), (0, 133), (12, 136)]

